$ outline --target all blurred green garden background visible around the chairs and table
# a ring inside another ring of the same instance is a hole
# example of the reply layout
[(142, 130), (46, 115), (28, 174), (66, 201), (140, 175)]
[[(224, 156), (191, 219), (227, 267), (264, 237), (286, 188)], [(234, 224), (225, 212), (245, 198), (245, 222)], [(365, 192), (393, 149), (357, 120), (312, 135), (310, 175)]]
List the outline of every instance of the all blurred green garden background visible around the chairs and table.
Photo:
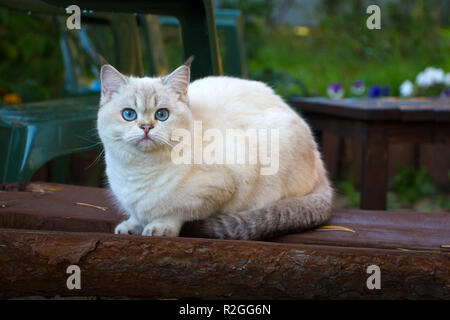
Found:
[[(369, 4), (381, 8), (381, 30), (366, 28)], [(442, 70), (444, 78), (450, 74), (450, 1), (222, 0), (215, 5), (242, 11), (249, 78), (268, 83), (284, 98), (327, 96), (333, 84), (344, 97), (354, 97), (356, 82), (365, 88), (360, 96), (399, 96), (407, 80), (415, 86), (410, 95), (437, 97), (450, 88), (445, 80), (418, 85), (426, 68)], [(162, 34), (173, 69), (182, 62), (179, 32), (162, 27)], [(95, 72), (85, 57), (79, 59), (81, 81), (89, 87)], [(65, 95), (59, 35), (50, 17), (0, 9), (0, 74), (4, 104)], [(342, 170), (335, 179), (336, 202), (345, 207), (359, 202), (357, 148), (350, 142), (342, 146)], [(74, 155), (68, 182), (103, 185), (97, 155)], [(450, 210), (448, 147), (393, 146), (390, 159), (388, 210)], [(45, 180), (50, 171), (47, 166), (34, 179)]]

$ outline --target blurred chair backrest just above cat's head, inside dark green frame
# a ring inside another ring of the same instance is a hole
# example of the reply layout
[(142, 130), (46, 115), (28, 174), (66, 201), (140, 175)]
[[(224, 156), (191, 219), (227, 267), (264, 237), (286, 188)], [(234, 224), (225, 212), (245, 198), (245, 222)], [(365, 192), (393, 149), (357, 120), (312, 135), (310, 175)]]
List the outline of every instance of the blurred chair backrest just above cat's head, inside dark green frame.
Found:
[[(80, 30), (67, 30), (63, 17), (59, 17), (58, 21), (66, 72), (65, 88), (69, 95), (100, 90), (98, 54), (125, 74), (143, 75), (136, 16), (95, 14), (89, 19), (83, 19)], [(84, 57), (84, 61), (80, 61), (81, 57)], [(89, 64), (88, 67), (83, 66), (91, 75), (92, 82), (89, 85), (81, 83), (80, 65), (83, 62)]]

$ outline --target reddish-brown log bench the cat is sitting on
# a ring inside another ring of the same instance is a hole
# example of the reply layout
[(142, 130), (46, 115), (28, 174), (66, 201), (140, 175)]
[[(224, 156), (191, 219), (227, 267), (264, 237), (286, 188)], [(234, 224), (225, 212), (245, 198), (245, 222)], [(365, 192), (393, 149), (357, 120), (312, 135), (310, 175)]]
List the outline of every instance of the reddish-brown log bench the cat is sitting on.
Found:
[[(0, 187), (0, 297), (448, 299), (450, 215), (336, 209), (327, 226), (267, 241), (114, 235), (107, 190)], [(81, 269), (81, 290), (66, 286)], [(368, 289), (367, 268), (381, 272)]]

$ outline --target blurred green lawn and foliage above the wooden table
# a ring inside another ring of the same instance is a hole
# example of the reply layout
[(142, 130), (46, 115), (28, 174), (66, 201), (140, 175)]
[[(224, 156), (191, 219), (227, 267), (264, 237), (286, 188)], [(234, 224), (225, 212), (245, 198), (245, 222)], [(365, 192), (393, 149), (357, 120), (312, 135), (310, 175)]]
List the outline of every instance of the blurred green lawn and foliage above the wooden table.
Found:
[[(318, 2), (317, 25), (307, 36), (296, 35), (293, 26), (270, 24), (281, 0), (228, 0), (222, 7), (243, 11), (251, 77), (276, 70), (269, 83), (284, 96), (295, 91), (323, 96), (332, 82), (341, 83), (348, 96), (358, 80), (366, 87), (389, 86), (391, 94), (398, 95), (400, 84), (414, 81), (427, 66), (450, 72), (450, 29), (440, 22), (442, 2), (374, 1), (381, 8), (381, 30), (366, 28), (366, 2)], [(293, 78), (291, 83), (302, 85), (286, 90), (283, 72)]]

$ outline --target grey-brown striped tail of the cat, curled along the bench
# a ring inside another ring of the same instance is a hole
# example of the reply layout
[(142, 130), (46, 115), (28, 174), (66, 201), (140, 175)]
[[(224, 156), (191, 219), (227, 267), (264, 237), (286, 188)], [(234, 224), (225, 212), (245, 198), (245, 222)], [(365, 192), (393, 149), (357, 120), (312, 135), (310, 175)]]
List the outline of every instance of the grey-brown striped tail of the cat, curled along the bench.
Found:
[(331, 217), (333, 190), (328, 182), (298, 198), (283, 199), (238, 213), (185, 223), (180, 236), (260, 240), (324, 224)]

